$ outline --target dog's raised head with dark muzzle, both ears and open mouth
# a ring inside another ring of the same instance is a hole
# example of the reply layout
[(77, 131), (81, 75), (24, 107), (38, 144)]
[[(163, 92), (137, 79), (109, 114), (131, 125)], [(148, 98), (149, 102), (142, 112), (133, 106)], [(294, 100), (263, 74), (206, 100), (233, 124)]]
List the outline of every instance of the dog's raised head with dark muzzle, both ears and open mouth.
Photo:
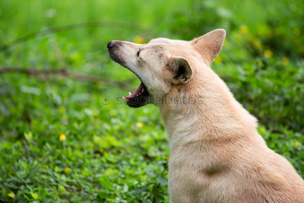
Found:
[(113, 40), (110, 58), (128, 68), (141, 80), (138, 89), (125, 98), (130, 107), (149, 103), (148, 97), (163, 97), (171, 88), (187, 85), (197, 63), (209, 67), (222, 49), (226, 32), (213, 30), (191, 41), (157, 38), (147, 44)]

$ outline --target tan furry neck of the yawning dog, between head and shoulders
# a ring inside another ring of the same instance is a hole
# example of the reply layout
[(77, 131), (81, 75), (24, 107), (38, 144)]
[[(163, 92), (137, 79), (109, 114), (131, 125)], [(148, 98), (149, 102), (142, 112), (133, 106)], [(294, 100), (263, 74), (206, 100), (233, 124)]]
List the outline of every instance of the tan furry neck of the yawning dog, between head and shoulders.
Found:
[(171, 153), (188, 142), (257, 134), (255, 117), (234, 99), (226, 84), (210, 68), (204, 74), (173, 87), (165, 97), (167, 103), (159, 106)]

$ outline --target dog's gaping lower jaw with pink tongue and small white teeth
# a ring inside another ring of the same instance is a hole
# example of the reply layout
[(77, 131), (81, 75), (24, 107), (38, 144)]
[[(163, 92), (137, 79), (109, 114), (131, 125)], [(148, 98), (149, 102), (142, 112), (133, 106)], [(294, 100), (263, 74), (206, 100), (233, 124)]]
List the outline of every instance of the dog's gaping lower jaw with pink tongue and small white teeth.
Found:
[(141, 82), (134, 93), (129, 92), (129, 96), (123, 97), (123, 99), (130, 107), (141, 107), (147, 104), (148, 94), (147, 87)]

